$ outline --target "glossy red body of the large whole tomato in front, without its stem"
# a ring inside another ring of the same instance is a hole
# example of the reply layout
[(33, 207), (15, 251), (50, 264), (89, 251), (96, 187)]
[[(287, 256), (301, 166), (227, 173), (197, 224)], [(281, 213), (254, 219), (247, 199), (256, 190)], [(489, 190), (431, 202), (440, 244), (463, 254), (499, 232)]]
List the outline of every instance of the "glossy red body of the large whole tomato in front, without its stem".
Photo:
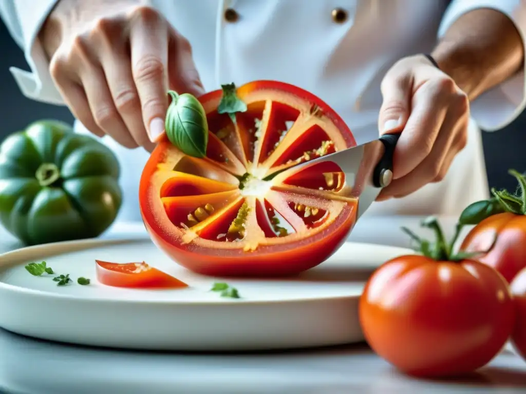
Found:
[(360, 298), (359, 316), (371, 348), (416, 376), (459, 375), (484, 366), (515, 322), (509, 289), (494, 269), (420, 255), (378, 268)]

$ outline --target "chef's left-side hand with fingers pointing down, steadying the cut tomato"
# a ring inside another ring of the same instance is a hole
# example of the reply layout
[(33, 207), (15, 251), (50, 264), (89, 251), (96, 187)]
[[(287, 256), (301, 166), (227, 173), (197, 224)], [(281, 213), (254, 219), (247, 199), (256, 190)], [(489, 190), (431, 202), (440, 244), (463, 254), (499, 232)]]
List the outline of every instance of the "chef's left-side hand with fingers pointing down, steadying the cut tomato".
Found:
[(152, 150), (168, 89), (203, 93), (188, 40), (140, 0), (60, 0), (39, 38), (73, 115), (99, 137)]

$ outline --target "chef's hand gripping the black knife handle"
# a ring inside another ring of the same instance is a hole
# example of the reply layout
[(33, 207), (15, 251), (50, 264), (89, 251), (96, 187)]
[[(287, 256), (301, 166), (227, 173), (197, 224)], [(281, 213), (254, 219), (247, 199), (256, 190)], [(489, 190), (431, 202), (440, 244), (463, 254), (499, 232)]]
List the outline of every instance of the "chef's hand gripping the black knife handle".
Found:
[(380, 134), (403, 130), (395, 149), (393, 181), (377, 200), (400, 198), (445, 176), (468, 138), (469, 100), (422, 55), (403, 58), (381, 84)]

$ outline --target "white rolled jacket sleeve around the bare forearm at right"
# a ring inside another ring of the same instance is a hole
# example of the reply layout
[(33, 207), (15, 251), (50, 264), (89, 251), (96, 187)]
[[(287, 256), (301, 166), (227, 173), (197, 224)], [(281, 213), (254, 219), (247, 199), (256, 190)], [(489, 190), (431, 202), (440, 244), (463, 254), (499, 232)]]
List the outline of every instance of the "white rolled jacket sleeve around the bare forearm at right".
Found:
[[(507, 15), (517, 27), (526, 43), (526, 3), (523, 0), (453, 0), (446, 10), (438, 36), (443, 37), (448, 28), (463, 14), (478, 8), (491, 8)], [(500, 85), (484, 92), (471, 102), (471, 116), (479, 127), (494, 131), (507, 126), (526, 106), (526, 83), (523, 68)]]

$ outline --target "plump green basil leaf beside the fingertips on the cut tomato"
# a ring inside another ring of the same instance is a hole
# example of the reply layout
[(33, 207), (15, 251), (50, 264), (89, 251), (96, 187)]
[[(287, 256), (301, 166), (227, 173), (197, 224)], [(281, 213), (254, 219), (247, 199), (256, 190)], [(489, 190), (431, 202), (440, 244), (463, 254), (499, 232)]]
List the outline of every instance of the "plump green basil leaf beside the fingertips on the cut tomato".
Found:
[(205, 109), (194, 96), (178, 95), (170, 90), (165, 130), (168, 140), (181, 152), (197, 158), (205, 157), (208, 144), (208, 122)]

